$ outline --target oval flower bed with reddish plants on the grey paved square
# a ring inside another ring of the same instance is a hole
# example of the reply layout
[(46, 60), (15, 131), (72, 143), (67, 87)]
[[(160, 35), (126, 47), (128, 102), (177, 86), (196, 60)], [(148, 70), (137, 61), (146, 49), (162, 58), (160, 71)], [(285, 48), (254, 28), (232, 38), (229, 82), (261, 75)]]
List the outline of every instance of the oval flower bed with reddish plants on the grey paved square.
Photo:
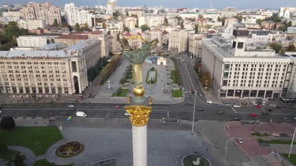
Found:
[(80, 142), (68, 142), (56, 149), (56, 155), (61, 158), (69, 158), (81, 153), (83, 149), (84, 146)]

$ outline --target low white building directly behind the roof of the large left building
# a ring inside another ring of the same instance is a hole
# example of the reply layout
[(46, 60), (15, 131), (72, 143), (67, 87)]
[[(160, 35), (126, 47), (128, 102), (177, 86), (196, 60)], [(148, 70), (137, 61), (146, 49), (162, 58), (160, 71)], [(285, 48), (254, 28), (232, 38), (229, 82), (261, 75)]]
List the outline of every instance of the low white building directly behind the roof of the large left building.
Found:
[(55, 43), (55, 38), (58, 36), (39, 36), (27, 35), (17, 38), (18, 47), (42, 47), (47, 44)]

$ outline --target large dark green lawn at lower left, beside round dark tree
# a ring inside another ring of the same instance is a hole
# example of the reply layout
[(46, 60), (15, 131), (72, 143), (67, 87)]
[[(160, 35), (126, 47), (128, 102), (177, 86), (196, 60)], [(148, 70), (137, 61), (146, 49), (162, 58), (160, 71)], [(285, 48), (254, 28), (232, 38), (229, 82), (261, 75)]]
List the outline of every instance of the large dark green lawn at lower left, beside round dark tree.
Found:
[(23, 146), (31, 149), (36, 156), (56, 141), (63, 139), (56, 127), (15, 127), (11, 130), (0, 129), (1, 141), (6, 145)]

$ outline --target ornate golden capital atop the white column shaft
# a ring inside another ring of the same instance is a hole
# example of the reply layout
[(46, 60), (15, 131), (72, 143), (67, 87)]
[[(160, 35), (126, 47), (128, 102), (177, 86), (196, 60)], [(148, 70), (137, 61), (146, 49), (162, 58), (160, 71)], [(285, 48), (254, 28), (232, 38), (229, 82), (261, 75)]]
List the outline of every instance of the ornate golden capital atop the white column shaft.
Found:
[(129, 119), (132, 125), (134, 126), (147, 125), (152, 107), (132, 105), (132, 106), (126, 106), (124, 108), (126, 109), (126, 113), (129, 114)]

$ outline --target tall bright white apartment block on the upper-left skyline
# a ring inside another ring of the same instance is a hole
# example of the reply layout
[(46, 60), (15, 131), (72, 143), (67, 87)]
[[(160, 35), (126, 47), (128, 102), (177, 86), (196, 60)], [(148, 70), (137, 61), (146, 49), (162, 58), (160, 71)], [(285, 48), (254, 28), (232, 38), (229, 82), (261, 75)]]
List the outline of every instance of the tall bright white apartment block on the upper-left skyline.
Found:
[(69, 25), (74, 26), (76, 23), (87, 23), (89, 26), (92, 26), (92, 14), (85, 10), (79, 10), (74, 3), (65, 4), (64, 11)]

